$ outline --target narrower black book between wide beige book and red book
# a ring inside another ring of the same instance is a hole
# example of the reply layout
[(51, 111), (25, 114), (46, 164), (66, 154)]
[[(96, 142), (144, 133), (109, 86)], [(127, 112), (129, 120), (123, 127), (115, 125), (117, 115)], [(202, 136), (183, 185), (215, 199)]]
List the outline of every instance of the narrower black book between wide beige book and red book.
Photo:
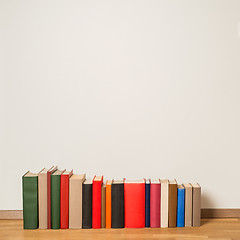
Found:
[(92, 228), (92, 180), (82, 185), (82, 228)]

